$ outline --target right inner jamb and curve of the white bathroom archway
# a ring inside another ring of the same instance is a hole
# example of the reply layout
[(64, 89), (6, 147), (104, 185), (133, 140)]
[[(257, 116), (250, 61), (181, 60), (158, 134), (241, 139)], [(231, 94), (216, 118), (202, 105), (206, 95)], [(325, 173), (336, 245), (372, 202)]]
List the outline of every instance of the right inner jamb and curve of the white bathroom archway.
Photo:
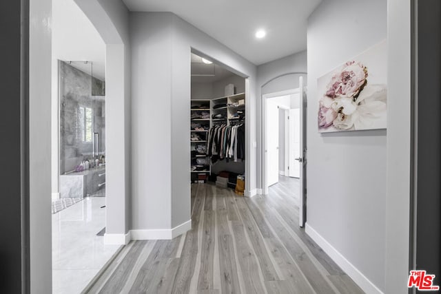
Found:
[(129, 13), (119, 0), (74, 0), (105, 45), (106, 233), (124, 244), (130, 228), (130, 42)]

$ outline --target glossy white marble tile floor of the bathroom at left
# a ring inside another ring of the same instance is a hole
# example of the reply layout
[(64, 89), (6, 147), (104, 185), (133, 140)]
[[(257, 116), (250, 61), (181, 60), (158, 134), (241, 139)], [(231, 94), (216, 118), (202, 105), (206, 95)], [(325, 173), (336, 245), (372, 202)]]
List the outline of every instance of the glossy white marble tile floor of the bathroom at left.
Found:
[(119, 245), (97, 236), (105, 227), (105, 198), (85, 198), (52, 215), (52, 293), (81, 293)]

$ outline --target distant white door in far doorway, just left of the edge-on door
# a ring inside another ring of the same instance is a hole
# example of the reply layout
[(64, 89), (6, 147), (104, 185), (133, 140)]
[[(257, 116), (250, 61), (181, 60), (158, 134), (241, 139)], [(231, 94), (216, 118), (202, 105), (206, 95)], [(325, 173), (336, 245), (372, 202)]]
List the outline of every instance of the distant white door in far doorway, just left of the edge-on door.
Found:
[(300, 178), (300, 109), (289, 109), (289, 168), (288, 176)]

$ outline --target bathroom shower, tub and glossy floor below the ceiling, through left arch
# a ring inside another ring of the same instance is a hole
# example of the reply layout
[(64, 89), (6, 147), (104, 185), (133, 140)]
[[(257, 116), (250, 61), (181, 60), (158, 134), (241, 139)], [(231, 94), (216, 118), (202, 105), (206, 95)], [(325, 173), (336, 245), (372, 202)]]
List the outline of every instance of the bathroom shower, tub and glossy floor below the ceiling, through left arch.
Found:
[(80, 293), (119, 249), (104, 244), (105, 70), (58, 61), (59, 196), (52, 201), (53, 293)]

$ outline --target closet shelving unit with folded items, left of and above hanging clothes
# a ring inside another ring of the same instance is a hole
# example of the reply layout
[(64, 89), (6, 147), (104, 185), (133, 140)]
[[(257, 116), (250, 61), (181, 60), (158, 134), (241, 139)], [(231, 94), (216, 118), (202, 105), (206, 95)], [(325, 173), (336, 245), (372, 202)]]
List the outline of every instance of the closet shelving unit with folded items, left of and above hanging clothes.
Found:
[(212, 169), (207, 156), (209, 128), (218, 125), (245, 123), (245, 93), (214, 99), (192, 99), (190, 150), (192, 182), (207, 182)]

